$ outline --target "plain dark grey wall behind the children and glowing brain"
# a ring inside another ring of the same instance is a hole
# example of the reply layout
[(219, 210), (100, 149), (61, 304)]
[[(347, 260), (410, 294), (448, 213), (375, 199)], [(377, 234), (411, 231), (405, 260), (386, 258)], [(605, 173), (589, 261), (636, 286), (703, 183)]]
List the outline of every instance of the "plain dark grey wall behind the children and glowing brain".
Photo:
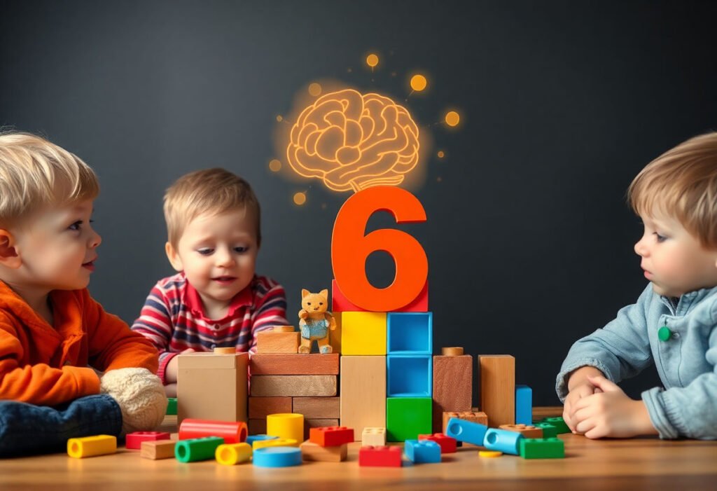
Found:
[[(646, 285), (624, 199), (632, 177), (717, 129), (711, 2), (0, 3), (0, 124), (42, 133), (97, 171), (104, 242), (90, 290), (128, 323), (172, 272), (163, 190), (210, 166), (255, 187), (258, 271), (286, 287), (295, 321), (300, 289), (330, 285), (348, 194), (269, 171), (281, 158), (276, 115), (313, 80), (400, 100), (409, 72), (427, 72), (431, 90), (406, 105), (433, 138), (414, 189), (428, 222), (399, 228), (427, 251), (435, 350), (514, 354), (536, 404), (557, 403), (571, 343)], [(374, 74), (362, 64), (371, 49)], [(449, 105), (464, 115), (454, 132), (433, 124)], [(390, 281), (385, 255), (368, 267)], [(636, 396), (655, 383), (650, 370), (625, 387)]]

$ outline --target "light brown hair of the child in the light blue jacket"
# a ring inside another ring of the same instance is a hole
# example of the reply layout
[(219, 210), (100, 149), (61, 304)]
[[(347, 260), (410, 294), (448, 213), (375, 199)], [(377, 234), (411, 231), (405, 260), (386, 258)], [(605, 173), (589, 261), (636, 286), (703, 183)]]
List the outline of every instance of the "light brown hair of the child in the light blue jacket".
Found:
[(717, 132), (695, 136), (655, 158), (627, 190), (640, 216), (662, 211), (702, 247), (717, 249)]

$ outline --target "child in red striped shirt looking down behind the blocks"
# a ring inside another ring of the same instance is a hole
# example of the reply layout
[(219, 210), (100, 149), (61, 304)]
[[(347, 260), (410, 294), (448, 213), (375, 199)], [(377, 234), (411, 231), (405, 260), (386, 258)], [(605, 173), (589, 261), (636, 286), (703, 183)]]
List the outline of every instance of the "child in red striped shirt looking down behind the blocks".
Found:
[(178, 273), (157, 282), (132, 329), (159, 351), (157, 375), (176, 394), (176, 355), (235, 346), (286, 325), (284, 289), (255, 275), (260, 206), (247, 181), (222, 168), (179, 178), (164, 196), (165, 250)]

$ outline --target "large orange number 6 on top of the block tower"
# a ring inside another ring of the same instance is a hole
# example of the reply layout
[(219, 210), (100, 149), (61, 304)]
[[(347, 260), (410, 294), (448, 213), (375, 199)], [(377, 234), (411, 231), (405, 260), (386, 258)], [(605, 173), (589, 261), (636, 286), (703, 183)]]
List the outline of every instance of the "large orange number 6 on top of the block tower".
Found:
[[(336, 215), (331, 238), (333, 277), (354, 305), (373, 312), (391, 312), (412, 302), (428, 277), (428, 259), (421, 244), (406, 232), (379, 229), (364, 236), (366, 222), (376, 211), (389, 211), (397, 224), (426, 221), (426, 211), (409, 191), (376, 186), (351, 196)], [(394, 282), (376, 288), (366, 277), (366, 259), (385, 251), (396, 263)]]

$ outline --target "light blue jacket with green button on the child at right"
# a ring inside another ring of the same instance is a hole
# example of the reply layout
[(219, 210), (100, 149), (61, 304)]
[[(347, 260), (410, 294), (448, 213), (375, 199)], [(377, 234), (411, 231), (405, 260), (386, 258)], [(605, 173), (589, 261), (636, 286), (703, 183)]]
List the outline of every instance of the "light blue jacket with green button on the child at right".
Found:
[[(660, 438), (717, 439), (716, 325), (717, 287), (685, 293), (675, 305), (650, 283), (637, 303), (572, 345), (557, 378), (558, 396), (565, 400), (566, 376), (581, 366), (617, 383), (654, 362), (665, 388), (644, 391), (642, 401)], [(657, 337), (663, 326), (671, 333), (665, 341)]]

